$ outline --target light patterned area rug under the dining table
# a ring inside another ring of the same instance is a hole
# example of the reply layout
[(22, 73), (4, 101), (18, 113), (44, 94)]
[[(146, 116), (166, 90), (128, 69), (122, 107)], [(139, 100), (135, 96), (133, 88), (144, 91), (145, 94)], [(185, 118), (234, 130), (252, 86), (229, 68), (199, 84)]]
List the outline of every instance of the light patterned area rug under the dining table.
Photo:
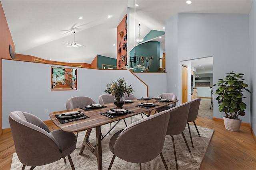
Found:
[[(132, 122), (138, 121), (139, 119), (142, 119), (141, 115), (133, 116)], [(131, 118), (126, 118), (125, 120), (128, 125), (131, 123)], [(111, 123), (111, 126), (113, 125), (114, 123)], [(108, 124), (101, 127), (103, 135), (106, 134), (106, 132), (108, 132), (109, 126), (110, 125)], [(201, 137), (198, 137), (198, 134), (196, 132), (194, 125), (190, 125), (194, 148), (192, 148), (191, 146), (188, 127), (186, 127), (186, 129), (184, 130), (184, 135), (188, 141), (188, 145), (190, 147), (191, 153), (188, 152), (188, 149), (186, 147), (186, 144), (184, 142), (182, 135), (174, 136), (174, 142), (175, 142), (176, 154), (177, 154), (177, 160), (178, 160), (178, 168), (180, 170), (199, 169), (202, 159), (204, 157), (204, 153), (206, 152), (206, 149), (211, 141), (214, 130), (208, 129), (206, 127), (199, 127), (199, 126), (197, 127)], [(118, 125), (116, 125), (116, 127), (111, 131), (111, 134), (107, 135), (102, 140), (102, 165), (104, 170), (108, 169), (108, 166), (113, 156), (112, 152), (110, 152), (109, 150), (109, 140), (116, 131), (124, 128), (125, 128), (124, 121), (120, 121)], [(97, 159), (88, 149), (85, 148), (83, 154), (79, 155), (79, 151), (84, 139), (84, 135), (85, 135), (85, 132), (80, 132), (78, 134), (76, 149), (71, 154), (71, 158), (73, 160), (76, 170), (97, 170), (98, 169)], [(92, 133), (90, 135), (90, 141), (92, 143), (93, 141), (95, 141), (95, 129), (92, 130)], [(170, 170), (176, 169), (174, 151), (172, 146), (172, 138), (170, 136), (166, 136), (165, 138), (165, 143), (164, 143), (164, 148), (162, 150), (162, 153), (164, 155), (168, 168)], [(67, 160), (66, 164), (64, 164), (63, 159), (60, 159), (48, 165), (37, 166), (34, 170), (71, 169), (70, 163), (67, 158), (66, 160)], [(29, 168), (30, 167), (26, 166), (25, 169), (29, 169)], [(20, 169), (22, 169), (22, 163), (19, 161), (17, 154), (14, 153), (12, 157), (11, 170), (20, 170)], [(112, 170), (138, 170), (140, 169), (140, 167), (139, 167), (139, 164), (126, 162), (116, 157), (111, 169)], [(154, 160), (147, 163), (143, 163), (142, 169), (143, 170), (164, 170), (165, 168), (160, 155), (158, 155)]]

